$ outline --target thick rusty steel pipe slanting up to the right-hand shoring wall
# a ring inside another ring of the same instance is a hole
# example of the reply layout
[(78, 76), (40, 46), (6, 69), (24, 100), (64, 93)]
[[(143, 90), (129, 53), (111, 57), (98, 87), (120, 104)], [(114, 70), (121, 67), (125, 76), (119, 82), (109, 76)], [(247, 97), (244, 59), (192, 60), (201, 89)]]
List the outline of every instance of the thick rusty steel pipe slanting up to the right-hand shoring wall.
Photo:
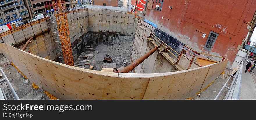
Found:
[(148, 57), (150, 57), (151, 54), (153, 54), (155, 51), (157, 50), (156, 48), (153, 48), (152, 50), (150, 50), (149, 52), (147, 52), (145, 55), (143, 55), (142, 57), (140, 57), (139, 59), (137, 59), (136, 61), (134, 61), (133, 63), (131, 63), (130, 65), (126, 66), (124, 69), (120, 70), (119, 72), (129, 72), (131, 70), (133, 70), (135, 67), (137, 67), (140, 63), (142, 63), (145, 59), (147, 59)]

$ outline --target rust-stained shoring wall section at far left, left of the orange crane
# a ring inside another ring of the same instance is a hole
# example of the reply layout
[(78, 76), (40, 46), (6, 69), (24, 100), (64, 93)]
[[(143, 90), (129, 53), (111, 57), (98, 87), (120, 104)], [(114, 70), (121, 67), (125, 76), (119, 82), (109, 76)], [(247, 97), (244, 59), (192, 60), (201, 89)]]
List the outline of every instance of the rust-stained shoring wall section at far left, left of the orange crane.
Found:
[(0, 37), (0, 41), (9, 45), (13, 43), (17, 48), (22, 48), (30, 37), (34, 37), (27, 46), (26, 52), (50, 60), (57, 57), (52, 33), (46, 18), (3, 32)]

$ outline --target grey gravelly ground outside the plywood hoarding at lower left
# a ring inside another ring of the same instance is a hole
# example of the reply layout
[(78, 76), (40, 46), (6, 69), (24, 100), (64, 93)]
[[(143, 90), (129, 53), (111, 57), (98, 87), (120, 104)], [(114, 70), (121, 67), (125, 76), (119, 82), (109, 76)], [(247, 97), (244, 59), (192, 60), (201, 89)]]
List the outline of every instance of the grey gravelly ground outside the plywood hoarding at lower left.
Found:
[[(14, 66), (7, 65), (5, 67), (4, 65), (6, 64), (8, 64), (6, 58), (3, 56), (3, 54), (0, 53), (0, 67), (6, 74), (13, 88), (15, 89), (17, 95), (19, 96), (19, 99), (49, 99), (42, 90), (36, 90), (32, 88), (32, 82), (23, 77), (22, 74), (19, 73)], [(1, 85), (3, 87), (7, 99), (15, 99), (13, 92), (10, 90), (10, 87), (8, 86), (7, 82), (1, 82)]]

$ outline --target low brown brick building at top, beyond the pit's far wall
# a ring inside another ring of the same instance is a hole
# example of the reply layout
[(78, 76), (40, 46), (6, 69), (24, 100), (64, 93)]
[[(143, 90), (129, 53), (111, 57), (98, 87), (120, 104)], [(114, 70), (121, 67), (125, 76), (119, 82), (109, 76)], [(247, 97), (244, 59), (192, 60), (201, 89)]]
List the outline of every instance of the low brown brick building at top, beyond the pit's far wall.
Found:
[(118, 7), (118, 0), (92, 0), (92, 5)]

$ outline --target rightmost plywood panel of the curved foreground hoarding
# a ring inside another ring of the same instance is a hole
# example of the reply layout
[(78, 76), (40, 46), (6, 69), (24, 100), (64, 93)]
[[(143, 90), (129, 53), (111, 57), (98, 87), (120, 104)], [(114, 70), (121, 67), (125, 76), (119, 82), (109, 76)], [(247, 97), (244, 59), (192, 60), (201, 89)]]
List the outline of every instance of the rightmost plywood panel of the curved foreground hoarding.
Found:
[(221, 61), (221, 62), (215, 63), (214, 65), (210, 66), (210, 69), (209, 69), (207, 77), (205, 78), (205, 81), (202, 85), (201, 90), (206, 88), (210, 83), (212, 83), (212, 81), (214, 81), (221, 75), (221, 73), (225, 70), (225, 68), (227, 66), (227, 62), (228, 62), (228, 60), (225, 60), (225, 61)]

